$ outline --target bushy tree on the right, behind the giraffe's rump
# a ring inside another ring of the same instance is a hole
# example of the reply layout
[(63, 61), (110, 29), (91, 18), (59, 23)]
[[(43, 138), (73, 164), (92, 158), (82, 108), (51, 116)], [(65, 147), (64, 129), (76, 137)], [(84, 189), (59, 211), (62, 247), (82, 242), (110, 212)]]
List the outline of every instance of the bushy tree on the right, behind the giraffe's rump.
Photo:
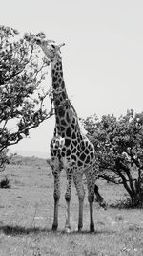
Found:
[(94, 144), (99, 177), (123, 184), (132, 206), (143, 206), (143, 112), (127, 111), (118, 119), (113, 115), (84, 120)]

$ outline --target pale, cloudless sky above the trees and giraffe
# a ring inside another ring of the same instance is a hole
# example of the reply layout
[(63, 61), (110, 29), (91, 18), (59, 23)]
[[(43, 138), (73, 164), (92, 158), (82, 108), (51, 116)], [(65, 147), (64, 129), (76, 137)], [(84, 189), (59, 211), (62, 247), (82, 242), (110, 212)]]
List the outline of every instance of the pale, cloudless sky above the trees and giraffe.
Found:
[[(143, 110), (142, 0), (5, 0), (1, 11), (2, 25), (66, 44), (64, 79), (79, 117)], [(49, 155), (53, 128), (54, 117), (10, 150)]]

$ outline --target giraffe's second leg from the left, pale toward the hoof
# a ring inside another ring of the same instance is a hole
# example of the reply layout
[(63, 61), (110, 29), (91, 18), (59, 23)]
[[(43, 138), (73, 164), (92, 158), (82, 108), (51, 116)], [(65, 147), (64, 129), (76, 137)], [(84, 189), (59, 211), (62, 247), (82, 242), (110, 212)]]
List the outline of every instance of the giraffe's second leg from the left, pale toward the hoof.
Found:
[(67, 233), (71, 230), (70, 224), (70, 201), (72, 198), (72, 171), (71, 173), (67, 170), (67, 190), (65, 193), (65, 200), (66, 200), (66, 224), (65, 230)]

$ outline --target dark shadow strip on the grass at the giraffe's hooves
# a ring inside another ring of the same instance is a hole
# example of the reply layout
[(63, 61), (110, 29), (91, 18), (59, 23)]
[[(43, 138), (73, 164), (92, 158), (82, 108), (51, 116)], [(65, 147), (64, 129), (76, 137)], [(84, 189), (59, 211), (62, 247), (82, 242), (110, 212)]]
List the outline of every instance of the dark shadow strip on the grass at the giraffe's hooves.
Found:
[(40, 227), (23, 227), (23, 226), (10, 226), (10, 225), (3, 225), (0, 226), (0, 232), (3, 232), (5, 235), (9, 236), (19, 236), (19, 235), (38, 235), (38, 234), (54, 234), (54, 235), (98, 235), (98, 234), (113, 234), (116, 233), (116, 231), (111, 231), (111, 230), (100, 230), (100, 231), (94, 231), (90, 232), (88, 230), (83, 230), (81, 232), (78, 231), (72, 231), (70, 233), (67, 233), (65, 230), (57, 230), (57, 231), (52, 231), (51, 228), (40, 228)]

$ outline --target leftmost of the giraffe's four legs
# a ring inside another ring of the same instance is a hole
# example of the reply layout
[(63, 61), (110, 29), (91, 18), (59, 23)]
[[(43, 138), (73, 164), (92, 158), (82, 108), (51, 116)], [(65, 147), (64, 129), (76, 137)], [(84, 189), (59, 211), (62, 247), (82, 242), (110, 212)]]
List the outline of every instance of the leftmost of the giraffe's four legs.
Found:
[(58, 204), (60, 199), (60, 171), (53, 170), (52, 173), (54, 177), (54, 192), (53, 192), (54, 214), (53, 214), (52, 230), (56, 231), (58, 227)]

